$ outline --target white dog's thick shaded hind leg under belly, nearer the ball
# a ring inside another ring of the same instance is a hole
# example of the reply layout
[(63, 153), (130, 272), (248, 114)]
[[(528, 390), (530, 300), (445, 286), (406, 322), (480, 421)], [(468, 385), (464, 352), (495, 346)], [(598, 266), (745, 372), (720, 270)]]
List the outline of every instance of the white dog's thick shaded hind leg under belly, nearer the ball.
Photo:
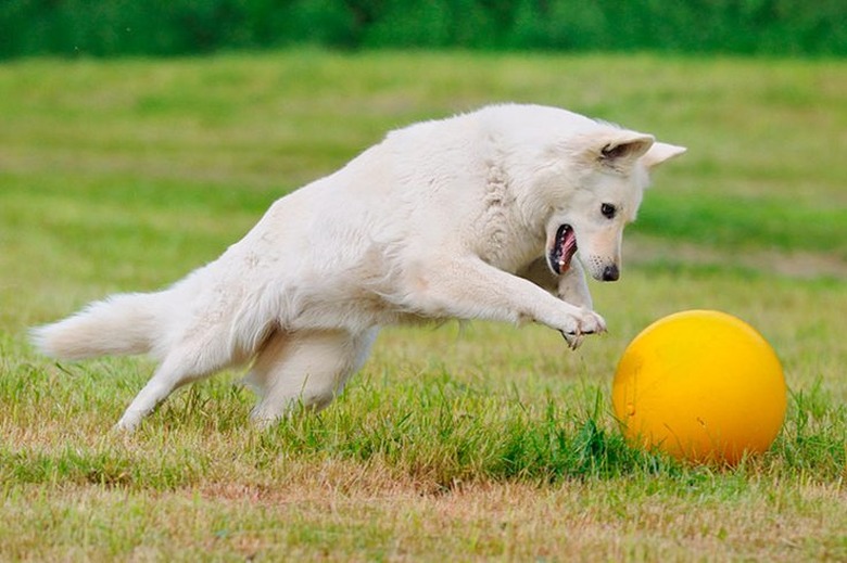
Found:
[(378, 329), (277, 332), (258, 353), (245, 383), (258, 394), (251, 418), (267, 425), (298, 406), (320, 410), (365, 363)]

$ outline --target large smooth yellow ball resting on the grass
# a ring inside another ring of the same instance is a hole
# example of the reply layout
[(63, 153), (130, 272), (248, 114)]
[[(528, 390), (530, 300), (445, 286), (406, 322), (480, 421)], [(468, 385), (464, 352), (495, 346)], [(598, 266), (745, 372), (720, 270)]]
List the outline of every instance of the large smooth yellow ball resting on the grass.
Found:
[(776, 354), (755, 329), (724, 312), (690, 310), (630, 343), (611, 401), (631, 444), (734, 464), (773, 443), (787, 392)]

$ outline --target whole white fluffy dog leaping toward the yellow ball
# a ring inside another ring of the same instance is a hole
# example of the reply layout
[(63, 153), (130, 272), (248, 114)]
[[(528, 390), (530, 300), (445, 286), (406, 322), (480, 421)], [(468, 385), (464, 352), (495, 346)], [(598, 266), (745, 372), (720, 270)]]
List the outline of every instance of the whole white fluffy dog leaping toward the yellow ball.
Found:
[(617, 280), (648, 171), (684, 151), (538, 105), (413, 125), (278, 200), (175, 285), (93, 303), (34, 342), (56, 358), (159, 360), (125, 430), (177, 387), (251, 361), (256, 421), (320, 409), (389, 323), (534, 321), (576, 347), (605, 323), (571, 258)]

